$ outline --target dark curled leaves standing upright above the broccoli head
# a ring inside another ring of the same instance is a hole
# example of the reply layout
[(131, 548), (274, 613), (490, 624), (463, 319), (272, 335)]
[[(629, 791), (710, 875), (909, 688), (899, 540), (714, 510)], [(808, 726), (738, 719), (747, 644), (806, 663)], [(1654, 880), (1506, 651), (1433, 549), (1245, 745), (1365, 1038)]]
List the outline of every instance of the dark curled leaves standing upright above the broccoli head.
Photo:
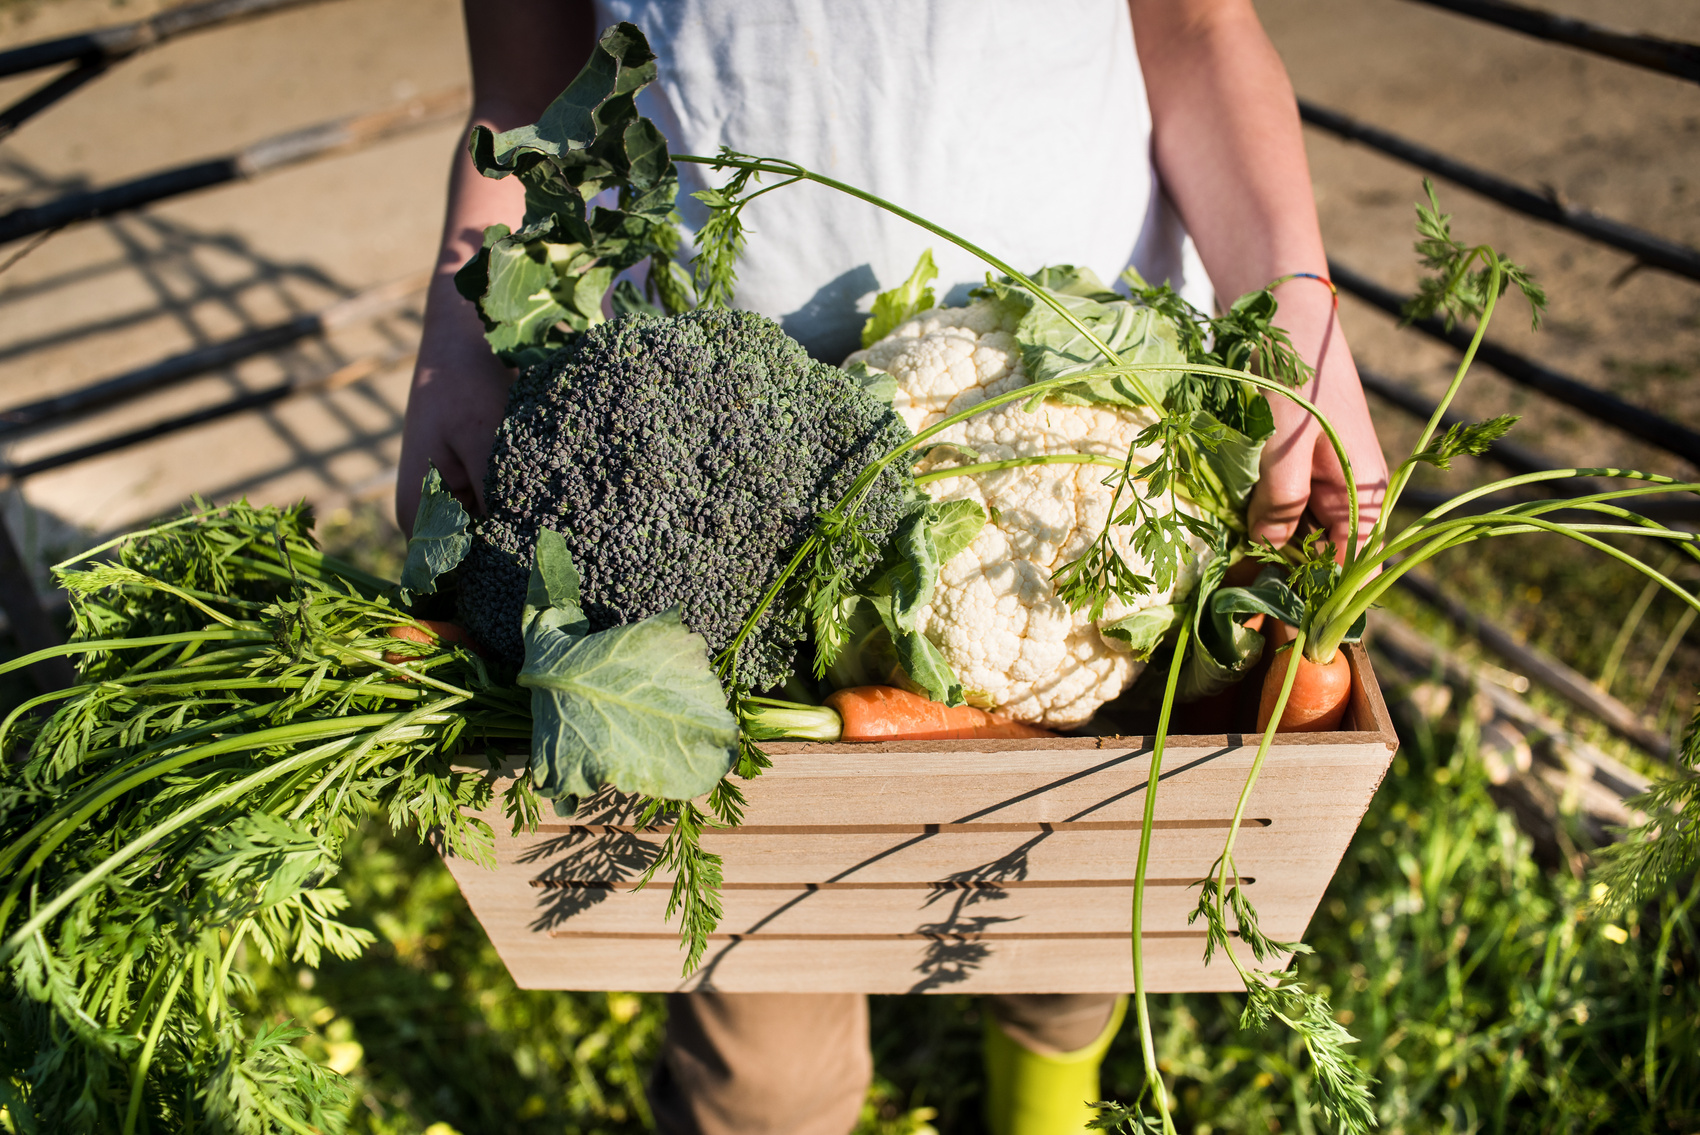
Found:
[[(690, 306), (690, 285), (673, 260), (678, 173), (666, 138), (634, 102), (653, 80), (643, 32), (615, 24), (537, 122), (502, 134), (473, 127), (478, 172), (525, 185), (520, 228), (484, 229), (484, 246), (454, 277), (508, 365), (541, 362), (600, 323), (614, 277), (646, 260), (651, 299), (666, 311)], [(617, 207), (592, 209), (605, 190), (617, 190)], [(629, 287), (617, 299), (631, 309), (634, 296)]]

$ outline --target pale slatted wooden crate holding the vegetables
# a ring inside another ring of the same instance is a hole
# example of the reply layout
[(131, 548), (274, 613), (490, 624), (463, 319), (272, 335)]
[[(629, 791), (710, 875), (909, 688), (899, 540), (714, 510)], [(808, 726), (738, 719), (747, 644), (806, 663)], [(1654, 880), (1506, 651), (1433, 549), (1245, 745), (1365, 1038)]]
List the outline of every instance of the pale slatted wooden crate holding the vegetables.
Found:
[[(1346, 729), (1277, 737), (1234, 858), (1261, 926), (1299, 940), (1392, 761), (1375, 675), (1352, 647)], [(1256, 736), (1175, 736), (1146, 889), (1153, 991), (1238, 989), (1187, 924), (1222, 850)], [(525, 989), (726, 992), (1095, 992), (1132, 989), (1129, 907), (1149, 737), (768, 744), (743, 826), (706, 833), (726, 914), (680, 977), (670, 877), (634, 880), (661, 836), (629, 802), (510, 838), (498, 870), (449, 858)], [(502, 785), (498, 785), (500, 788)], [(1265, 962), (1263, 967), (1270, 963)]]

